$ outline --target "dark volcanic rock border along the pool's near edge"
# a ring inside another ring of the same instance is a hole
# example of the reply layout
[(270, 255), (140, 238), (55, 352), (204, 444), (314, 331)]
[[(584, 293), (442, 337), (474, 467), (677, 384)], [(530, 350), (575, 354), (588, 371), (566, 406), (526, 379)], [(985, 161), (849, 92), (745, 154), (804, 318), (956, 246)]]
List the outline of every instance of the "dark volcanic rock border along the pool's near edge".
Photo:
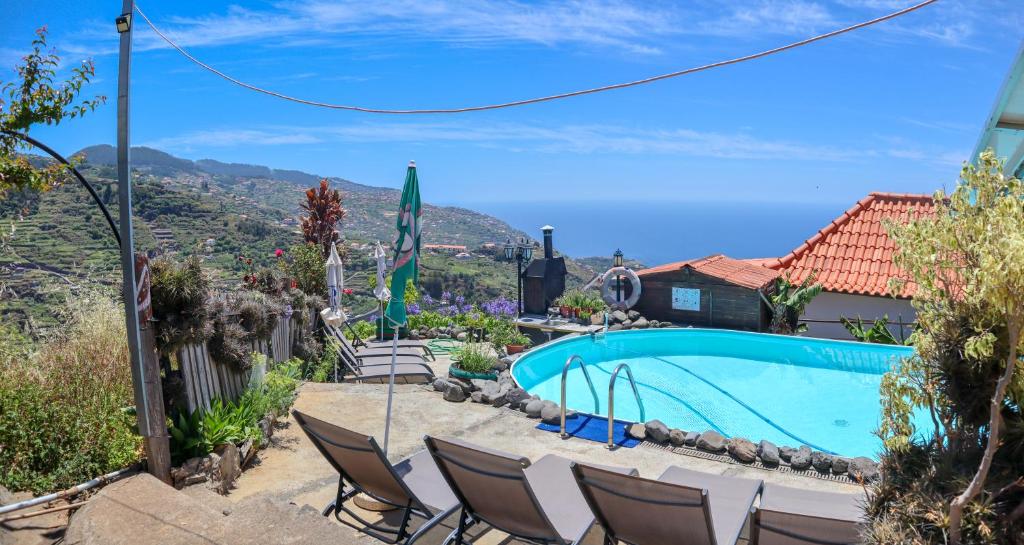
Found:
[[(501, 359), (496, 367), (498, 380), (465, 380), (453, 376), (437, 377), (433, 381), (434, 391), (441, 393), (446, 402), (489, 405), (495, 408), (508, 407), (522, 412), (528, 418), (537, 418), (546, 424), (561, 423), (561, 410), (557, 403), (542, 400), (520, 388), (509, 371), (514, 357)], [(565, 418), (577, 417), (577, 412), (567, 410)], [(638, 441), (674, 449), (699, 451), (728, 457), (740, 464), (753, 465), (760, 462), (766, 469), (787, 468), (809, 476), (842, 477), (853, 483), (871, 483), (879, 478), (879, 464), (863, 456), (847, 458), (814, 451), (803, 445), (800, 447), (776, 446), (762, 439), (754, 443), (745, 437), (727, 438), (720, 432), (708, 429), (702, 432), (670, 428), (660, 420), (637, 422), (626, 428), (627, 434)]]

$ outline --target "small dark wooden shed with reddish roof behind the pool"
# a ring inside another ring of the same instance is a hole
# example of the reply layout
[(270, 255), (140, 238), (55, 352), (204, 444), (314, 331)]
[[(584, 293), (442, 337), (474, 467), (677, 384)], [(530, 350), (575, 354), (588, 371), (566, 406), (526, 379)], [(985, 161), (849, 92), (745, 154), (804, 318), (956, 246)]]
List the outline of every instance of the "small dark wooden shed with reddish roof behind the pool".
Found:
[(634, 308), (648, 320), (723, 329), (767, 331), (777, 270), (722, 254), (638, 270)]

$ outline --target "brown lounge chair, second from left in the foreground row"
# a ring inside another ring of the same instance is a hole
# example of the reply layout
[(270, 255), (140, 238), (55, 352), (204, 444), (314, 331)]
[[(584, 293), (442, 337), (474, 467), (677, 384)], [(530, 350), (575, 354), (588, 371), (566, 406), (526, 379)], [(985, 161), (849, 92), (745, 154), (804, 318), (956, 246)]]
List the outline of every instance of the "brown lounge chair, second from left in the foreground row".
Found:
[[(594, 515), (572, 483), (570, 460), (549, 454), (537, 463), (457, 439), (424, 437), (427, 451), (462, 504), (451, 543), (462, 545), (469, 526), (485, 522), (535, 543), (577, 543)], [(636, 474), (636, 469), (606, 468)]]

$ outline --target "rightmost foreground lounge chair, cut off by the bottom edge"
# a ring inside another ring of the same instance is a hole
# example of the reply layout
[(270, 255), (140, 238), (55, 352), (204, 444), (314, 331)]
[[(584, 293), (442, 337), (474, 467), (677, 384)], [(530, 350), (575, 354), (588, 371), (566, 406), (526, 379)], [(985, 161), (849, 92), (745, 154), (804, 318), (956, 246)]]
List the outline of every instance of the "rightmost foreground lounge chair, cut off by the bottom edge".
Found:
[(765, 485), (754, 512), (751, 545), (861, 543), (863, 494), (836, 494)]

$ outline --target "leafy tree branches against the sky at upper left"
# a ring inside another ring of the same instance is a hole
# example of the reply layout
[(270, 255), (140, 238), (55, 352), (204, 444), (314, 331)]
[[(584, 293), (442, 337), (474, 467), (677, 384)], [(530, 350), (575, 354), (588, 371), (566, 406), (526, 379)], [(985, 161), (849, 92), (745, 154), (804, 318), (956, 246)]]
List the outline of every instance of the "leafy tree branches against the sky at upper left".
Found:
[[(106, 101), (105, 96), (80, 100), (82, 87), (92, 79), (92, 60), (73, 68), (71, 77), (56, 82), (60, 57), (46, 48), (46, 27), (36, 31), (32, 52), (14, 68), (17, 81), (0, 82), (0, 197), (10, 191), (48, 191), (68, 179), (69, 167), (59, 163), (33, 165), (20, 153), (26, 143), (4, 132), (28, 133), (34, 125), (57, 125), (82, 117)], [(72, 158), (73, 165), (81, 158)]]

